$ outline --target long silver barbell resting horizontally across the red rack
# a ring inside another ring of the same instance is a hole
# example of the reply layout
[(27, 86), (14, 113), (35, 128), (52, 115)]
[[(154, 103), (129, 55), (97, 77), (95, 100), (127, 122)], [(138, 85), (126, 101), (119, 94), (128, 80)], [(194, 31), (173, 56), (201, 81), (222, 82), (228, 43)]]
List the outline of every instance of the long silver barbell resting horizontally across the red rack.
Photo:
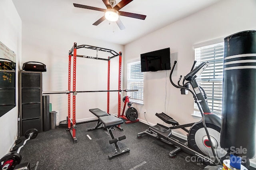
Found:
[(43, 92), (43, 94), (70, 94), (73, 93), (75, 96), (77, 93), (88, 93), (88, 92), (136, 92), (137, 90), (91, 90), (91, 91), (52, 91), (52, 92)]

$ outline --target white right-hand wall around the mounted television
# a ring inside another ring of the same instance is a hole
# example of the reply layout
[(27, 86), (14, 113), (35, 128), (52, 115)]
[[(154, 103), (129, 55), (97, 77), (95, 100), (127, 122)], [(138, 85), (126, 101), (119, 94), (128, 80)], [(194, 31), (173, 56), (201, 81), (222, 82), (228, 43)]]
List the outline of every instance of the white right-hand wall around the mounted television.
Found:
[[(126, 80), (128, 62), (139, 60), (142, 53), (170, 47), (171, 64), (174, 60), (178, 61), (173, 76), (174, 82), (177, 82), (179, 76), (186, 75), (192, 67), (194, 44), (225, 37), (243, 30), (255, 30), (255, 11), (255, 0), (222, 0), (127, 44), (124, 50), (124, 80)], [(143, 114), (145, 109), (147, 110), (146, 119), (150, 124), (163, 124), (163, 121), (155, 116), (156, 112), (166, 112), (180, 124), (198, 121), (190, 115), (193, 113), (194, 106), (192, 95), (180, 95), (180, 90), (170, 84), (169, 74), (170, 70), (167, 71), (166, 92), (166, 71), (144, 73), (144, 105), (134, 105), (140, 113), (140, 121), (146, 122)], [(126, 86), (127, 82), (125, 81), (124, 88)]]

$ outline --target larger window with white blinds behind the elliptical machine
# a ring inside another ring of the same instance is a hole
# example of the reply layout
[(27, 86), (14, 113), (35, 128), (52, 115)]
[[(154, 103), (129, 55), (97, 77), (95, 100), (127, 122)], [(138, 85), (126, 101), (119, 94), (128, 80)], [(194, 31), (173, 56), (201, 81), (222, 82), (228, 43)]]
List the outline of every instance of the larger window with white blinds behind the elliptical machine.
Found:
[[(211, 112), (222, 112), (222, 78), (223, 78), (224, 42), (195, 48), (196, 66), (201, 62), (209, 62), (209, 66), (196, 78), (207, 95)], [(194, 110), (199, 111), (196, 104)]]

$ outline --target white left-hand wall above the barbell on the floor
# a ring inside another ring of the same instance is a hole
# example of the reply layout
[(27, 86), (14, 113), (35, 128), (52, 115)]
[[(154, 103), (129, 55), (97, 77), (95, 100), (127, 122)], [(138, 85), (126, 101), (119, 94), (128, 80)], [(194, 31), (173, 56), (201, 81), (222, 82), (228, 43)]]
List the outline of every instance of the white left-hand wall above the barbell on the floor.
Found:
[[(21, 58), (21, 19), (12, 1), (0, 1), (0, 41), (16, 54), (16, 66)], [(16, 71), (16, 87), (18, 76)], [(16, 88), (16, 107), (0, 117), (0, 158), (8, 153), (17, 137), (18, 88)]]

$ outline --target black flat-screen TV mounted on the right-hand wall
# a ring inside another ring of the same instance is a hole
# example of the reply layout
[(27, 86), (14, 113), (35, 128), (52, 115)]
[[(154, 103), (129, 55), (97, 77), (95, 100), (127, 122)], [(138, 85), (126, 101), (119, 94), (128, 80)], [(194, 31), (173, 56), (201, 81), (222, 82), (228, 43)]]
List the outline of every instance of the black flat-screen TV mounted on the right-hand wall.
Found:
[(141, 72), (170, 70), (170, 48), (140, 54)]

